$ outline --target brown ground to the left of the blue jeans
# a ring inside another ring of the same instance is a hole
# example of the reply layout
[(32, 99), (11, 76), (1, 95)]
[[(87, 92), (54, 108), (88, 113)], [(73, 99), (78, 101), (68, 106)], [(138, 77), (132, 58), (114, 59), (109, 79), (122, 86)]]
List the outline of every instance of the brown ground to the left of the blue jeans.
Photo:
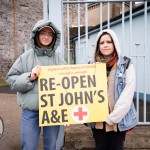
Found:
[(17, 106), (16, 95), (0, 93), (0, 116), (4, 122), (0, 150), (20, 150), (21, 109)]

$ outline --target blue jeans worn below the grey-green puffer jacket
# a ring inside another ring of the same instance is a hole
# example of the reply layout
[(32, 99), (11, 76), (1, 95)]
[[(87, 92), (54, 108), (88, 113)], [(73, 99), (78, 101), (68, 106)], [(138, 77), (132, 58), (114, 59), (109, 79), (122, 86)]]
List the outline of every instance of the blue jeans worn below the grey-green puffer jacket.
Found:
[[(39, 112), (22, 110), (22, 150), (38, 150), (41, 127), (39, 127)], [(56, 150), (59, 126), (43, 127), (44, 150)]]

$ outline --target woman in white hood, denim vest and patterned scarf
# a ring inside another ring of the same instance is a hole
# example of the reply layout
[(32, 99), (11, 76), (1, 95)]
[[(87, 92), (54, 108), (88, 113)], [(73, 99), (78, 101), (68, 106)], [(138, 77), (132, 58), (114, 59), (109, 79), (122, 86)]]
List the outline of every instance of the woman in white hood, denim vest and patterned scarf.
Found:
[(123, 150), (126, 132), (138, 123), (133, 104), (134, 66), (130, 63), (125, 68), (119, 40), (110, 29), (99, 32), (94, 60), (106, 62), (109, 115), (106, 122), (87, 123), (87, 126), (92, 129), (96, 150)]

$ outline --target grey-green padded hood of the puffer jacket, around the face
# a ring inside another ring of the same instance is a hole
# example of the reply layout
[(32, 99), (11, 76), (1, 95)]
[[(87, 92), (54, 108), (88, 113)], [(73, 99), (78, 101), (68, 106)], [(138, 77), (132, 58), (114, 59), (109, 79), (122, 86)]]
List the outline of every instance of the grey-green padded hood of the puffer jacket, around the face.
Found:
[[(53, 41), (48, 48), (42, 48), (38, 40), (39, 32), (45, 27), (49, 27), (54, 32)], [(35, 24), (31, 32), (30, 42), (37, 55), (51, 56), (60, 44), (60, 31), (51, 21), (40, 20)]]

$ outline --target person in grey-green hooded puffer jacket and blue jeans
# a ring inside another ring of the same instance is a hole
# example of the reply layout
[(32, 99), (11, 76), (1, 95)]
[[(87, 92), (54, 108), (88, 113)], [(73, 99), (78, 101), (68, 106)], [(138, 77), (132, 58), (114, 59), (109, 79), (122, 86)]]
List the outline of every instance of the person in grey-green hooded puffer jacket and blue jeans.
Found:
[[(14, 62), (7, 74), (11, 90), (17, 91), (18, 104), (22, 107), (21, 142), (23, 150), (37, 150), (41, 127), (39, 127), (38, 76), (40, 66), (65, 65), (55, 53), (60, 43), (60, 32), (45, 20), (38, 21), (30, 36), (32, 48)], [(44, 150), (56, 150), (60, 126), (43, 127)]]

